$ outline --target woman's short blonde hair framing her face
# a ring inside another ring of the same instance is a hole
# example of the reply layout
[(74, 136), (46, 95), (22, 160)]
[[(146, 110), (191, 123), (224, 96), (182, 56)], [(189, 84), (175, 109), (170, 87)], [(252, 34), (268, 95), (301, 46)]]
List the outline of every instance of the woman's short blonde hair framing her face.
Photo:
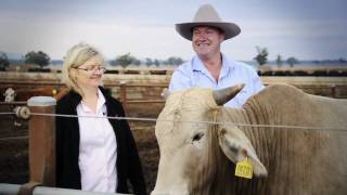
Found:
[(82, 95), (82, 91), (80, 87), (78, 87), (76, 79), (72, 76), (70, 69), (81, 66), (92, 57), (97, 57), (101, 64), (104, 64), (104, 57), (102, 54), (95, 48), (87, 43), (78, 43), (74, 46), (67, 51), (66, 56), (64, 57), (63, 82), (69, 90), (73, 89), (80, 95)]

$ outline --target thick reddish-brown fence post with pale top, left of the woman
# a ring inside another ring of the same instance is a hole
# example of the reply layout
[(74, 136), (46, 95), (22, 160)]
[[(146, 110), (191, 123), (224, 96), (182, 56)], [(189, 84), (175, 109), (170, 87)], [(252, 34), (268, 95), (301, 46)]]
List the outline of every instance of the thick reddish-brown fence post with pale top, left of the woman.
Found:
[[(33, 96), (30, 113), (55, 114), (55, 99)], [(29, 182), (55, 186), (55, 117), (31, 115), (29, 120)]]

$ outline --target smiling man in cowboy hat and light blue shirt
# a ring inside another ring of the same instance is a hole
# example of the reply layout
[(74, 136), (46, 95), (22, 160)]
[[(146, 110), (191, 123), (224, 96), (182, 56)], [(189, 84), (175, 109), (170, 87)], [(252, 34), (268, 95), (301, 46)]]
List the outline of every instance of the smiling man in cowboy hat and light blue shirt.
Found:
[(237, 36), (241, 29), (233, 23), (222, 22), (211, 5), (202, 5), (192, 23), (176, 24), (176, 30), (192, 41), (196, 55), (174, 72), (169, 91), (191, 87), (222, 89), (245, 83), (244, 89), (224, 104), (242, 107), (250, 95), (264, 89), (260, 78), (250, 66), (227, 58), (220, 52), (221, 42)]

